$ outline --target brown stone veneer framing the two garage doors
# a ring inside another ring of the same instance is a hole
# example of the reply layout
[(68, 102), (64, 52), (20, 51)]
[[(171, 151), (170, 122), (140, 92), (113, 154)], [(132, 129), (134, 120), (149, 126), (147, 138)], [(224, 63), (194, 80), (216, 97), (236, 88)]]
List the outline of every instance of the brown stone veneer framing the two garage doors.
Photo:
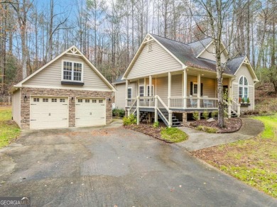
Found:
[[(24, 101), (24, 96), (27, 101)], [(75, 97), (93, 97), (106, 99), (106, 123), (112, 122), (112, 91), (81, 91), (67, 89), (43, 89), (43, 88), (22, 88), (21, 89), (21, 128), (30, 128), (30, 96), (65, 96), (69, 101), (69, 126), (75, 126)], [(71, 98), (73, 97), (73, 101)]]

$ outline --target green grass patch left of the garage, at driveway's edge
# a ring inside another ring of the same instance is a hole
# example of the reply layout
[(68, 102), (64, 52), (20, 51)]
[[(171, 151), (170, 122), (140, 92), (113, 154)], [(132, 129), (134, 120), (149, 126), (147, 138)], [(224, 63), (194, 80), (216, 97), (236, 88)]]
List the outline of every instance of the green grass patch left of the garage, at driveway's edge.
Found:
[(11, 121), (11, 107), (0, 107), (0, 148), (18, 138), (20, 129)]

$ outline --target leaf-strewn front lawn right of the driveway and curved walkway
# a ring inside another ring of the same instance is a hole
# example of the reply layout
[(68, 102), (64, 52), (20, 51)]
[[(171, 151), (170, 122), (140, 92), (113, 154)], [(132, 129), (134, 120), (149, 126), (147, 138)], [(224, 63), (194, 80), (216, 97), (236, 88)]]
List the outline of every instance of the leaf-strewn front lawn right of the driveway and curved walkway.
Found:
[(277, 198), (277, 114), (255, 119), (265, 125), (256, 138), (198, 150), (192, 155)]

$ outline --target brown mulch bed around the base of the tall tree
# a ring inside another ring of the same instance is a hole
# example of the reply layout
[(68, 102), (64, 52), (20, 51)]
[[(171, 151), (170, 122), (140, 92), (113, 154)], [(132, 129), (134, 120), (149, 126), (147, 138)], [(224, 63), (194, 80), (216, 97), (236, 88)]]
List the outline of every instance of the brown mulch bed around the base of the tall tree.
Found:
[(187, 125), (191, 128), (196, 128), (198, 125), (205, 125), (208, 127), (216, 128), (217, 133), (234, 133), (241, 128), (241, 119), (240, 118), (225, 118), (224, 128), (219, 128), (218, 121), (207, 122), (205, 119), (199, 121), (192, 121)]

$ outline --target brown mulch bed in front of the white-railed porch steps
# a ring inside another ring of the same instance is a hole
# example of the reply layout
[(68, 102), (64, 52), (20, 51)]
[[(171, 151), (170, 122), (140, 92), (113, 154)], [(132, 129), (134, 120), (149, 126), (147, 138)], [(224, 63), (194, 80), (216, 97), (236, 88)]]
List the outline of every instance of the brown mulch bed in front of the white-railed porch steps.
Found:
[(149, 135), (153, 138), (156, 138), (158, 140), (162, 140), (164, 142), (172, 143), (172, 142), (169, 142), (168, 140), (163, 140), (163, 138), (161, 138), (161, 130), (163, 129), (163, 127), (165, 127), (165, 125), (161, 125), (161, 123), (160, 123), (160, 126), (156, 127), (156, 128), (154, 128), (152, 125), (144, 124), (144, 123), (141, 123), (140, 125), (136, 125), (136, 124), (134, 124), (134, 125), (124, 125), (124, 128), (128, 128), (128, 129), (131, 129), (131, 130), (138, 131), (140, 133), (143, 133), (145, 135)]

